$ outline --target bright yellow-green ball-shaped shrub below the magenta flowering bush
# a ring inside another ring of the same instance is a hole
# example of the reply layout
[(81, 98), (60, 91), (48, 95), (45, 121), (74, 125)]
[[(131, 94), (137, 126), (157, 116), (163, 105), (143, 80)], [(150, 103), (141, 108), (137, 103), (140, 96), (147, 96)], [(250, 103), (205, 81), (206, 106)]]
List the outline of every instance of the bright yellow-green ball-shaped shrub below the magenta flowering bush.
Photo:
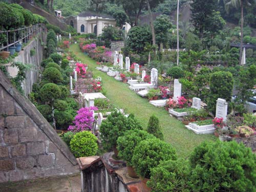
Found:
[(97, 137), (88, 131), (78, 132), (70, 141), (70, 148), (76, 158), (94, 156), (98, 150)]

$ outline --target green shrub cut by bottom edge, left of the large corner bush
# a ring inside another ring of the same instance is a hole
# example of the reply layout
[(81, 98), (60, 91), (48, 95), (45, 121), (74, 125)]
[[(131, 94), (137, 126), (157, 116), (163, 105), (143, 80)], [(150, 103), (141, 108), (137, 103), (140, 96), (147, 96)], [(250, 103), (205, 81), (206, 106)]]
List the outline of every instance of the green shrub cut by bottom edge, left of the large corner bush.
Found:
[(190, 192), (189, 174), (189, 164), (184, 159), (162, 161), (152, 168), (147, 186), (152, 188), (152, 192)]

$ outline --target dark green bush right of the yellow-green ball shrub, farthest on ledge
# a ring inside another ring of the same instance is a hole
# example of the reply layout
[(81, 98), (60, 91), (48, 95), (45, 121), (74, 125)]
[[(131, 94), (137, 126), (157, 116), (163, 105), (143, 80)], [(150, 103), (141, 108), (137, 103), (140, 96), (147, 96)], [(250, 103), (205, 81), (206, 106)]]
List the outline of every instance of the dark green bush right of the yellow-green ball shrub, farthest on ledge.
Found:
[(135, 129), (142, 130), (137, 119), (132, 116), (126, 118), (117, 112), (111, 113), (100, 125), (102, 146), (106, 150), (111, 150), (116, 146), (118, 137), (123, 136), (127, 130)]

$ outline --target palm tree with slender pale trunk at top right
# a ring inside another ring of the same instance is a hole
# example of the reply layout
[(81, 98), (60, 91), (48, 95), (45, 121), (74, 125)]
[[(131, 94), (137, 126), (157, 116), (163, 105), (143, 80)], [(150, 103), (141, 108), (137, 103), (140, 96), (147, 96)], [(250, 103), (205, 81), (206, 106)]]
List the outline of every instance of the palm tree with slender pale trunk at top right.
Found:
[[(220, 2), (220, 0), (219, 0)], [(223, 0), (225, 4), (225, 10), (229, 13), (230, 8), (235, 8), (241, 10), (241, 36), (240, 36), (240, 55), (239, 55), (239, 63), (241, 65), (242, 52), (243, 52), (243, 28), (244, 28), (244, 5), (251, 6), (251, 2), (256, 2), (256, 0)]]

